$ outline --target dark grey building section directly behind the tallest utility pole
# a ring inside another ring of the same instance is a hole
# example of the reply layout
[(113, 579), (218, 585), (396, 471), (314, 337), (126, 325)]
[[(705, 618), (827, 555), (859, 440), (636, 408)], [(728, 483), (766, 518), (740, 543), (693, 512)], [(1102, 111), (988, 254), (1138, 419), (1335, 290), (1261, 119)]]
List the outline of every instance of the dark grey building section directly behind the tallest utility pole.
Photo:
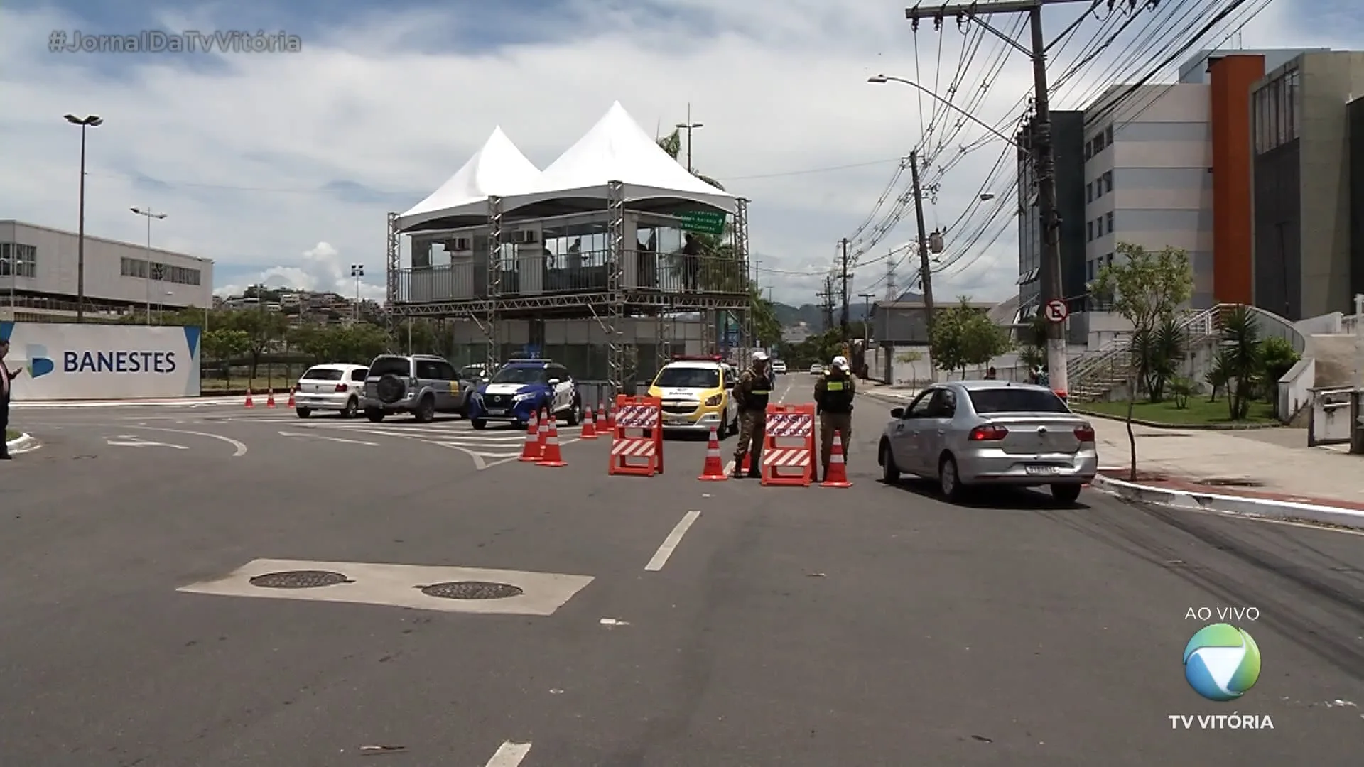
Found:
[[(1042, 216), (1038, 209), (1037, 175), (1033, 171), (1033, 131), (1028, 120), (1018, 134), (1019, 184), (1019, 317), (1041, 307)], [(1084, 308), (1084, 112), (1052, 112), (1052, 147), (1056, 157), (1056, 213), (1061, 240), (1061, 295), (1071, 311)]]

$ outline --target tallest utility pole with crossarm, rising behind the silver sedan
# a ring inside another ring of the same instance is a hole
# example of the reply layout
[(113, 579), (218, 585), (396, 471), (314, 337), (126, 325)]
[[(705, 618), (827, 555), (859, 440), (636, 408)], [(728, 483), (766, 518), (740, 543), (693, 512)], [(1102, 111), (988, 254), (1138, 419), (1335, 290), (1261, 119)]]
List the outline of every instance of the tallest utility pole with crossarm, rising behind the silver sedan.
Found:
[[(1042, 34), (1042, 7), (1060, 5), (1064, 3), (1084, 3), (1093, 0), (1000, 0), (985, 5), (975, 3), (945, 4), (932, 8), (906, 8), (904, 18), (914, 23), (918, 31), (919, 19), (933, 19), (933, 26), (941, 29), (947, 16), (968, 19), (985, 27), (986, 31), (1004, 40), (1008, 45), (1023, 52), (1033, 60), (1033, 104), (1037, 115), (1034, 117), (1033, 167), (1037, 172), (1038, 210), (1042, 218), (1042, 306), (1048, 302), (1061, 300), (1061, 239), (1058, 236), (1060, 221), (1056, 216), (1056, 157), (1052, 153), (1052, 109), (1048, 100), (1046, 86), (1046, 38)], [(1158, 0), (1150, 0), (1157, 3)], [(1031, 27), (1031, 46), (1024, 48), (1009, 35), (994, 29), (985, 20), (985, 16), (994, 14), (1028, 15)], [(921, 229), (922, 231), (922, 229)], [(925, 296), (928, 281), (925, 280)], [(1061, 322), (1048, 322), (1046, 325), (1046, 367), (1048, 375), (1054, 389), (1063, 397), (1067, 396), (1069, 381), (1065, 368), (1065, 329)]]

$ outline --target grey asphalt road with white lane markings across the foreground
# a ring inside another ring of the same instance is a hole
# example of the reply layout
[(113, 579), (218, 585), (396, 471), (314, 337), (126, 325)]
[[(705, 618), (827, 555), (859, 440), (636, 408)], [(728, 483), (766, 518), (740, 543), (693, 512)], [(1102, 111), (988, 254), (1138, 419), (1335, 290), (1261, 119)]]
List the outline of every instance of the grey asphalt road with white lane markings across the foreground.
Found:
[[(889, 407), (861, 399), (847, 490), (698, 482), (704, 441), (647, 479), (569, 431), (543, 468), (457, 420), (18, 411), (44, 445), (0, 465), (0, 763), (1360, 763), (1360, 536), (1098, 493), (951, 506), (877, 482)], [(280, 569), (352, 583), (246, 581)], [(524, 594), (415, 588), (438, 580)], [(1259, 610), (1232, 621), (1264, 658), (1243, 699), (1184, 682), (1189, 607)], [(1274, 729), (1169, 719), (1233, 711)]]

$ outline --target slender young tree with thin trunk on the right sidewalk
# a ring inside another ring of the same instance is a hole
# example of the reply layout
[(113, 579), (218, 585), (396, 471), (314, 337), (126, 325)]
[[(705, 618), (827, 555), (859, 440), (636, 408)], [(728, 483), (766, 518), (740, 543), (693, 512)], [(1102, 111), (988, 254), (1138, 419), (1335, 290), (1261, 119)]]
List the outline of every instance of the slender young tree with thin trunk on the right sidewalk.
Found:
[(1117, 254), (1117, 262), (1101, 269), (1090, 289), (1132, 323), (1127, 441), (1132, 456), (1129, 479), (1136, 482), (1136, 435), (1132, 433), (1136, 389), (1158, 362), (1153, 356), (1153, 349), (1158, 347), (1154, 338), (1157, 329), (1163, 321), (1173, 321), (1174, 313), (1194, 295), (1194, 270), (1188, 254), (1174, 247), (1151, 252), (1142, 246), (1118, 243)]

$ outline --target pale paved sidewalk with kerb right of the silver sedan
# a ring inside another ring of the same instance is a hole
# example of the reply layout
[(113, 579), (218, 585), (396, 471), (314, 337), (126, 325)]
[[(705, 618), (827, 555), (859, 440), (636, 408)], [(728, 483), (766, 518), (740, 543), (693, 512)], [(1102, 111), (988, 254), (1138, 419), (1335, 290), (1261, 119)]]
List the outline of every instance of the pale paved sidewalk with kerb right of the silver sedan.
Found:
[(1170, 505), (1364, 527), (1364, 456), (1288, 448), (1254, 431), (1132, 426), (1138, 457), (1132, 484), (1127, 424), (1106, 418), (1090, 423), (1102, 475), (1097, 487)]

